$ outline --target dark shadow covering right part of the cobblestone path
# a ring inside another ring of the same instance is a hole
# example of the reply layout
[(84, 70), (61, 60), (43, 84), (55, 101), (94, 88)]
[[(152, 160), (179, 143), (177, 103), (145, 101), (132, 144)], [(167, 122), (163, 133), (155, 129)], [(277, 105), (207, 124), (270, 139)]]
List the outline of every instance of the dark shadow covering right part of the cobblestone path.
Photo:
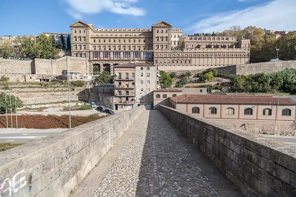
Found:
[[(136, 196), (220, 196), (158, 110), (146, 111), (147, 126)], [(148, 116), (148, 118), (147, 118)]]

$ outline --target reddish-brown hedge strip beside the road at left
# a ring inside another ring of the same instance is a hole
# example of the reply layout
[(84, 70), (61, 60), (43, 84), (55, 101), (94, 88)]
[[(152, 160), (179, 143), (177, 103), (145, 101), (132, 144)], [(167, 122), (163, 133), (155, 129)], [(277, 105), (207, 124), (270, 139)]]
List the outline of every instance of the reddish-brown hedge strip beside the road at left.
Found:
[[(106, 116), (100, 116), (98, 113), (88, 116), (71, 115), (71, 127), (96, 121)], [(12, 124), (16, 125), (15, 115), (12, 116)], [(6, 128), (6, 126), (6, 116), (1, 115), (0, 128)], [(69, 115), (17, 115), (17, 126), (18, 128), (36, 129), (69, 128)], [(8, 121), (8, 127), (11, 127), (11, 121)]]

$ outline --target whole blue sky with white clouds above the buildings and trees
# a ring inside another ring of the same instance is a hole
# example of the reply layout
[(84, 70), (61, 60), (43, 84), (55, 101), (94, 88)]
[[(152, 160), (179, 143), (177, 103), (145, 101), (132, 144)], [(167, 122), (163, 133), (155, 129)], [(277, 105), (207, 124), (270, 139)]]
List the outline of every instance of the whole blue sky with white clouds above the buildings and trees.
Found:
[[(221, 32), (232, 25), (296, 30), (296, 0), (1, 0), (0, 36), (95, 28), (150, 28), (165, 21), (183, 34)], [(17, 5), (17, 6), (15, 6)]]

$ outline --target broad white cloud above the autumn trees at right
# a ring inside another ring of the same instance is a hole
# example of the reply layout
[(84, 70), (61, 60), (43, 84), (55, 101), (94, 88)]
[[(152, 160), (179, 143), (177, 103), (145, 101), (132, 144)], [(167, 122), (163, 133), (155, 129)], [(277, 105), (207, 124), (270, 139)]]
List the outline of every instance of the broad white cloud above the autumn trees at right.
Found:
[(296, 1), (274, 0), (261, 6), (219, 13), (187, 28), (190, 32), (222, 32), (232, 25), (256, 26), (271, 30), (296, 30)]

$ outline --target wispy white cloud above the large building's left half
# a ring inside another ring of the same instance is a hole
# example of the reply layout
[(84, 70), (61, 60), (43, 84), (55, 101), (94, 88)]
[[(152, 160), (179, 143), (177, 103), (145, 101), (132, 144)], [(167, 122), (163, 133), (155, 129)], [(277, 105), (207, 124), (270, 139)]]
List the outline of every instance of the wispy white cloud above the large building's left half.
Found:
[[(130, 4), (136, 3), (138, 0), (65, 0), (71, 6), (71, 14), (94, 14), (104, 10), (116, 14), (128, 14), (133, 16), (144, 16), (145, 10), (131, 6)], [(76, 18), (77, 19), (77, 18)]]

